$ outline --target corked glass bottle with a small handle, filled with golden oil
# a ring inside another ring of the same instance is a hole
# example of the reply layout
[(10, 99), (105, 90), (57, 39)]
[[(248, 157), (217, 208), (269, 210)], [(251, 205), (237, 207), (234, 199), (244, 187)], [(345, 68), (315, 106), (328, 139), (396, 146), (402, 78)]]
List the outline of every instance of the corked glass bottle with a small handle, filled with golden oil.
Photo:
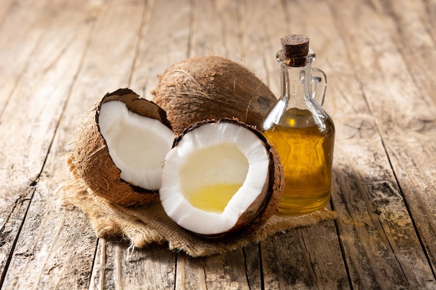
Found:
[(281, 97), (263, 121), (265, 137), (279, 152), (285, 188), (279, 211), (306, 214), (330, 200), (334, 124), (322, 108), (327, 79), (312, 68), (309, 38), (281, 38)]

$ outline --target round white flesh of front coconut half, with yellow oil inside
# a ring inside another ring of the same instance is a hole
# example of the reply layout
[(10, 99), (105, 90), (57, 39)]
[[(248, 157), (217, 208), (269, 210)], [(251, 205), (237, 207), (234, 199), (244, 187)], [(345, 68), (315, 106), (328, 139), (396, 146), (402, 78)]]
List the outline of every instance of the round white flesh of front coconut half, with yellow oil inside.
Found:
[[(203, 124), (166, 155), (159, 195), (166, 214), (197, 234), (228, 232), (267, 182), (263, 142), (233, 123)], [(257, 203), (256, 203), (257, 204)]]

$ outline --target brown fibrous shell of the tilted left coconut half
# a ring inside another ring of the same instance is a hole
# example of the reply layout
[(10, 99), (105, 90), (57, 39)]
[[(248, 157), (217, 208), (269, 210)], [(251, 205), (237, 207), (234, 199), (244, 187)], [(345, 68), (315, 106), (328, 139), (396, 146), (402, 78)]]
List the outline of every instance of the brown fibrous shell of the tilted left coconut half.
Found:
[(112, 161), (106, 140), (100, 134), (100, 108), (102, 104), (110, 101), (124, 102), (130, 111), (159, 120), (171, 129), (165, 111), (155, 103), (139, 98), (139, 95), (129, 89), (108, 93), (88, 111), (77, 128), (75, 150), (68, 160), (70, 171), (73, 176), (83, 179), (96, 195), (110, 202), (123, 205), (146, 204), (158, 198), (158, 191), (139, 188), (121, 179), (121, 171)]

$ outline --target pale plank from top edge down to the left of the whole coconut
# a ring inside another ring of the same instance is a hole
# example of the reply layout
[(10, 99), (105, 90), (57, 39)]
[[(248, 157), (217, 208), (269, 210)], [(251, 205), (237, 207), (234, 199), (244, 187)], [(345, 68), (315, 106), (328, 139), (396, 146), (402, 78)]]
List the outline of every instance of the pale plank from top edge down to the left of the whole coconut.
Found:
[(141, 28), (130, 88), (141, 97), (152, 99), (157, 75), (189, 52), (189, 1), (148, 1)]

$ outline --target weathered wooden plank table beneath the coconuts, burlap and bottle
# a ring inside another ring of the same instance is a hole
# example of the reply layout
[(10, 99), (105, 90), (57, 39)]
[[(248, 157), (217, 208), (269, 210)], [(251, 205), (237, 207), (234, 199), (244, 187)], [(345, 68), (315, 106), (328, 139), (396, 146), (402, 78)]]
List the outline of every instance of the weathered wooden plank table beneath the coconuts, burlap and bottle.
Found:
[[(211, 54), (279, 93), (279, 38), (308, 35), (336, 124), (336, 220), (194, 259), (130, 252), (59, 207), (65, 156), (106, 92)], [(436, 289), (436, 1), (2, 0), (1, 289)]]

